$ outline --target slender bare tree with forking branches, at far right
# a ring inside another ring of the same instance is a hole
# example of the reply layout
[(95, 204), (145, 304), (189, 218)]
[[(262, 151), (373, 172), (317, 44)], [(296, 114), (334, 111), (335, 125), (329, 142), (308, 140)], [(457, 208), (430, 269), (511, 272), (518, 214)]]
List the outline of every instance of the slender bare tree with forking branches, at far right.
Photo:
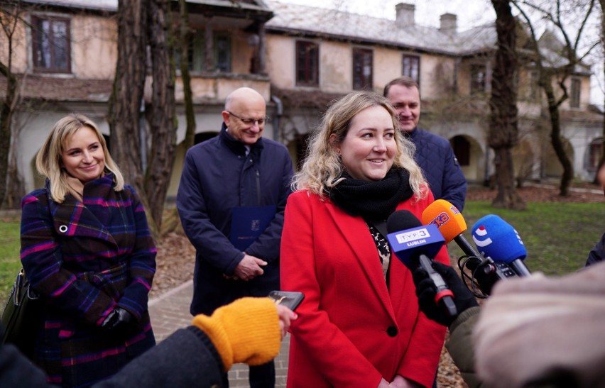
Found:
[[(584, 57), (586, 57), (597, 44), (594, 43), (584, 50), (584, 52), (580, 52), (582, 34), (587, 28), (587, 21), (594, 10), (595, 0), (589, 0), (587, 2), (566, 2), (568, 7), (572, 6), (574, 11), (579, 13), (579, 18), (577, 18), (579, 25), (577, 26), (577, 29), (574, 28), (577, 31), (575, 40), (570, 38), (569, 31), (571, 31), (571, 28), (567, 28), (563, 23), (563, 19), (565, 17), (569, 18), (569, 16), (565, 16), (565, 10), (562, 9), (561, 0), (548, 2), (544, 5), (534, 3), (531, 0), (511, 0), (511, 3), (519, 11), (520, 16), (522, 16), (528, 26), (528, 38), (531, 50), (533, 50), (531, 59), (535, 63), (536, 70), (538, 70), (538, 84), (545, 92), (547, 99), (547, 109), (551, 126), (550, 142), (552, 143), (552, 148), (555, 150), (557, 159), (563, 167), (559, 194), (561, 196), (567, 196), (569, 193), (569, 185), (574, 177), (574, 167), (572, 161), (569, 160), (569, 155), (565, 152), (565, 142), (562, 139), (559, 109), (563, 102), (569, 98), (569, 93), (567, 92), (567, 81), (569, 77), (574, 74), (576, 67), (582, 64)], [(565, 58), (565, 62), (563, 62), (562, 65), (549, 62), (543, 50), (540, 48), (536, 28), (533, 19), (530, 17), (530, 13), (537, 14), (540, 20), (546, 20), (551, 26), (554, 26), (562, 36), (562, 48), (557, 52), (557, 55)], [(555, 90), (555, 82), (558, 89), (560, 89), (560, 93), (558, 90)]]

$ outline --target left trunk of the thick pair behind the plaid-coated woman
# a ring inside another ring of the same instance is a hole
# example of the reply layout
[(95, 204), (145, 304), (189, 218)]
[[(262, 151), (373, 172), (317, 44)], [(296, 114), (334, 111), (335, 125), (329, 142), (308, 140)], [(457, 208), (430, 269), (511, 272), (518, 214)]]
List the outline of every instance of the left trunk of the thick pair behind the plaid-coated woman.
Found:
[[(148, 206), (141, 166), (141, 101), (146, 77), (147, 0), (118, 2), (118, 61), (109, 99), (111, 156), (126, 183), (132, 184)], [(143, 150), (144, 152), (144, 150)]]

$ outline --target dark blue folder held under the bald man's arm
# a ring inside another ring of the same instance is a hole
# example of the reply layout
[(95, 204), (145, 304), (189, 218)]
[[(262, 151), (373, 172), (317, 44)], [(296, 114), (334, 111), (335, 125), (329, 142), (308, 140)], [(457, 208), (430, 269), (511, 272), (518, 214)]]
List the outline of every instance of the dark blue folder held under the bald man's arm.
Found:
[(275, 215), (275, 205), (235, 207), (231, 213), (231, 244), (241, 251), (246, 250), (265, 231)]

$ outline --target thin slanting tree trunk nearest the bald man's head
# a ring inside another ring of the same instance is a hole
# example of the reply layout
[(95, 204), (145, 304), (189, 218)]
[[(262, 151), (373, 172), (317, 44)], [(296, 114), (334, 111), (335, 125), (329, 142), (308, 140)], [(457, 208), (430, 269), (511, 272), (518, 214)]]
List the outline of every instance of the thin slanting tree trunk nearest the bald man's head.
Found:
[(182, 92), (185, 97), (185, 118), (187, 120), (185, 141), (183, 142), (186, 152), (195, 143), (195, 112), (193, 111), (191, 75), (189, 73), (189, 50), (187, 50), (191, 33), (189, 28), (187, 1), (179, 0), (178, 3), (180, 9), (180, 40), (178, 42), (178, 47), (180, 49), (180, 77), (182, 79)]

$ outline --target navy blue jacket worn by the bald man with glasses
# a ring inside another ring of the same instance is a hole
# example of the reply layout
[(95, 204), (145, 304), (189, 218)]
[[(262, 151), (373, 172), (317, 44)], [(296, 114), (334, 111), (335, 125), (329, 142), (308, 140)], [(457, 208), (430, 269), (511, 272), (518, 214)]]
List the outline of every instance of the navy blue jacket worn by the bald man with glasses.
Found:
[[(260, 138), (246, 148), (223, 124), (215, 138), (187, 151), (177, 194), (182, 227), (196, 250), (191, 314), (214, 309), (242, 296), (266, 296), (279, 289), (279, 250), (283, 211), (293, 176), (288, 150)], [(229, 240), (231, 211), (236, 206), (276, 205), (276, 216), (246, 248), (267, 261), (264, 274), (249, 282), (226, 279), (233, 275), (244, 253)]]

